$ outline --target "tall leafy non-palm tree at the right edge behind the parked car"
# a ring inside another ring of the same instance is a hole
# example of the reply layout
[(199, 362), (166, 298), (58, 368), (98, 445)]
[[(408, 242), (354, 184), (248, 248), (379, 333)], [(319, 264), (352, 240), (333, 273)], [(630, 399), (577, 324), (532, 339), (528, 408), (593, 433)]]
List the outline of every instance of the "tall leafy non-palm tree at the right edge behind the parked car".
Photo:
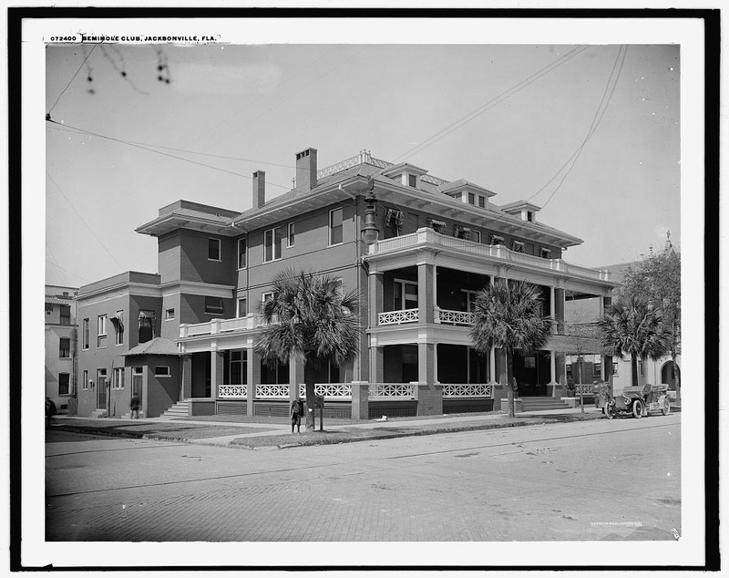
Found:
[(628, 267), (621, 294), (645, 295), (661, 309), (663, 325), (670, 334), (668, 354), (676, 377), (676, 401), (680, 404), (681, 371), (676, 357), (681, 354), (681, 253), (668, 241), (662, 252), (651, 252)]

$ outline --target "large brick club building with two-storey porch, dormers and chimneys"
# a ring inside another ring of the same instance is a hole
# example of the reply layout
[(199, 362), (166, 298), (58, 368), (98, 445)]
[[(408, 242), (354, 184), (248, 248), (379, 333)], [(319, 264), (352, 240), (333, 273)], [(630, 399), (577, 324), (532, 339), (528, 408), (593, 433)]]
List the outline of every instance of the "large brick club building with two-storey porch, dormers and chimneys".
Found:
[[(134, 342), (124, 337), (113, 361), (147, 376), (155, 356), (169, 363), (169, 382), (141, 386), (146, 415), (159, 415), (162, 405), (152, 409), (150, 399), (177, 401), (175, 387), (159, 389), (178, 378), (178, 397), (190, 415), (286, 416), (290, 400), (303, 395), (303, 366), (295, 360), (265, 366), (253, 346), (262, 331), (259, 306), (272, 296), (275, 276), (306, 270), (341, 279), (345, 291), (361, 295), (359, 356), (313, 376), (329, 415), (490, 410), (506, 396), (498, 387), (506, 383), (505, 356), (499, 350), (477, 356), (468, 333), (477, 291), (500, 277), (538, 284), (544, 315), (557, 322), (544, 350), (516, 356), (519, 396), (561, 395), (565, 355), (580, 338), (564, 323), (565, 295), (599, 297), (604, 306), (614, 287), (606, 272), (562, 260), (580, 239), (539, 222), (539, 207), (529, 202), (499, 207), (496, 193), (477, 184), (444, 181), (364, 151), (317, 170), (317, 151), (303, 150), (296, 155), (295, 182), (293, 191), (266, 202), (265, 173), (257, 170), (246, 212), (177, 201), (141, 225), (138, 232), (158, 238), (159, 275), (128, 273), (80, 289), (79, 318), (91, 328), (81, 355), (89, 376), (105, 369), (98, 376), (108, 378), (111, 371), (109, 346), (98, 346), (93, 335), (98, 317), (128, 311), (134, 335), (138, 313), (124, 299), (139, 298), (143, 290), (145, 308), (154, 311), (154, 336), (166, 341), (142, 351), (141, 335)], [(380, 240), (368, 245), (361, 231), (370, 185)], [(137, 275), (146, 281), (133, 280)], [(594, 339), (586, 339), (595, 350)], [(179, 377), (171, 368), (171, 341), (180, 354)], [(611, 367), (609, 360), (601, 364), (601, 378)], [(103, 410), (98, 394), (83, 392), (85, 412)], [(122, 397), (130, 395), (127, 390)]]

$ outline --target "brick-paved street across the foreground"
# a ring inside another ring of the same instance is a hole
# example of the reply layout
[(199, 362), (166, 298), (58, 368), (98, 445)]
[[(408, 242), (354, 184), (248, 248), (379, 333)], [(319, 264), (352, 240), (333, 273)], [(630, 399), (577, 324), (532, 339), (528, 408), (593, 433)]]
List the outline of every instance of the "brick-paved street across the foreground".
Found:
[(681, 415), (248, 450), (51, 431), (49, 541), (673, 540)]

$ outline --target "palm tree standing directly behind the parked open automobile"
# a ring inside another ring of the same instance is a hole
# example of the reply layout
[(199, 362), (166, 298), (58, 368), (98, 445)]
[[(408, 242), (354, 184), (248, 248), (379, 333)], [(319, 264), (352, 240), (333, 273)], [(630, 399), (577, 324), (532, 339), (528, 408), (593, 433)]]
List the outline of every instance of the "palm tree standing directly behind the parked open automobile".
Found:
[(657, 360), (669, 352), (671, 335), (660, 309), (642, 295), (625, 294), (612, 302), (598, 325), (608, 355), (631, 356), (631, 385), (638, 385), (638, 359)]

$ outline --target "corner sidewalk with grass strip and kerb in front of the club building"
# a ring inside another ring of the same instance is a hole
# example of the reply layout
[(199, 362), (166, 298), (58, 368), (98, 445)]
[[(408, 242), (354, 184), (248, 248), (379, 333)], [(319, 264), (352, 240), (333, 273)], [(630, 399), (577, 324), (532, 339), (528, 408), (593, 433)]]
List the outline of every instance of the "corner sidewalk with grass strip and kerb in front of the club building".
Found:
[[(477, 429), (515, 428), (537, 424), (565, 423), (587, 419), (600, 419), (600, 409), (580, 408), (532, 411), (508, 418), (501, 413), (457, 414), (423, 416), (417, 418), (388, 418), (386, 421), (371, 419), (356, 421), (347, 419), (324, 420), (324, 431), (301, 434), (291, 433), (286, 418), (255, 420), (240, 417), (241, 421), (190, 418), (77, 418), (56, 416), (52, 429), (76, 431), (87, 434), (116, 436), (133, 439), (163, 439), (185, 443), (227, 446), (240, 449), (285, 449), (299, 446), (323, 445), (364, 441), (368, 439), (392, 439), (405, 436), (422, 436)], [(319, 428), (319, 422), (316, 422)]]

